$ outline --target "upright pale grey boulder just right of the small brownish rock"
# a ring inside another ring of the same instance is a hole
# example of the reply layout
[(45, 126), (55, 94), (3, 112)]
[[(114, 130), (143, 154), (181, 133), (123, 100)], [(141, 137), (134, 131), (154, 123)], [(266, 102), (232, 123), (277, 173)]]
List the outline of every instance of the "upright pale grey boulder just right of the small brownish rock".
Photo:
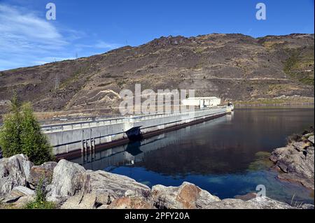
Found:
[(48, 185), (48, 200), (57, 201), (61, 197), (78, 194), (86, 180), (83, 166), (62, 159), (54, 168), (52, 182)]

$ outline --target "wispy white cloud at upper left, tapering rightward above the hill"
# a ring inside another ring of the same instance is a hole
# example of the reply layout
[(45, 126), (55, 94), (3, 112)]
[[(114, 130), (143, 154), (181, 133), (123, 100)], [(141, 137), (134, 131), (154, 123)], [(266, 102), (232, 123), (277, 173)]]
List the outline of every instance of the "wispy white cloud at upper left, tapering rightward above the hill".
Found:
[(0, 71), (75, 59), (78, 52), (89, 56), (99, 49), (122, 46), (97, 40), (86, 44), (84, 38), (92, 41), (84, 31), (48, 21), (34, 10), (0, 3)]

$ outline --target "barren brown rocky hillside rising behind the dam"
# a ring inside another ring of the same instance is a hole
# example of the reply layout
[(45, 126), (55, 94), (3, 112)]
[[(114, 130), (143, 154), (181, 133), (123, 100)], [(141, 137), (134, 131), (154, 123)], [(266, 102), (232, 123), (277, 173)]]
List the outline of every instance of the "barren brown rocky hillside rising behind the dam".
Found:
[(136, 83), (232, 100), (314, 96), (314, 34), (169, 36), (103, 55), (1, 71), (0, 110), (13, 90), (38, 111), (110, 109), (118, 106), (120, 90), (133, 90)]

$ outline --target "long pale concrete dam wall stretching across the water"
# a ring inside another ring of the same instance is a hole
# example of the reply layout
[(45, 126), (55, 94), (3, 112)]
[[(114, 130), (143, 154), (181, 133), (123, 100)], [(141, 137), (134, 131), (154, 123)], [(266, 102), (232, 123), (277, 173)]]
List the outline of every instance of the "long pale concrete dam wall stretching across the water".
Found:
[(42, 125), (48, 136), (52, 152), (57, 159), (84, 156), (95, 150), (112, 148), (130, 142), (126, 132), (134, 127), (143, 138), (156, 136), (166, 131), (212, 120), (230, 113), (227, 106), (200, 110), (106, 118), (84, 122), (67, 122)]

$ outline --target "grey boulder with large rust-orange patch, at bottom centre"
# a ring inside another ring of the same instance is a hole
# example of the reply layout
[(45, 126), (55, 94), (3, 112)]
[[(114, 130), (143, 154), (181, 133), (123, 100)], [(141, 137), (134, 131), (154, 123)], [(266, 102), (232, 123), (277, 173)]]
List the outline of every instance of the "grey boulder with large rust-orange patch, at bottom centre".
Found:
[(211, 202), (220, 201), (217, 196), (189, 182), (183, 182), (180, 187), (155, 185), (152, 188), (152, 196), (157, 208), (168, 209), (205, 208)]

